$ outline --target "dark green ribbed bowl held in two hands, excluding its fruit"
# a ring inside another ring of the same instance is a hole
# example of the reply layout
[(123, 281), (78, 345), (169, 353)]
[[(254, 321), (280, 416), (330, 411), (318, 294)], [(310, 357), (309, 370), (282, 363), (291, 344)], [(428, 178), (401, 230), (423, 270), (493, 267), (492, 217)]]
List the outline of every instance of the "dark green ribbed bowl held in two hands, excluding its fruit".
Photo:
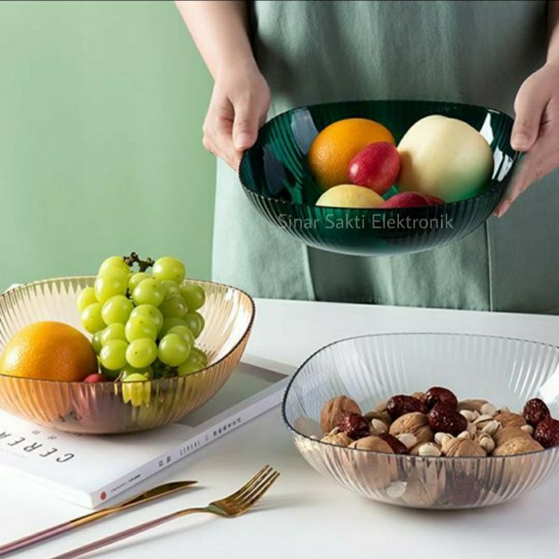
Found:
[[(307, 152), (328, 124), (351, 117), (373, 119), (398, 143), (414, 122), (433, 114), (461, 119), (488, 140), (493, 174), (481, 194), (421, 208), (314, 205), (322, 190), (307, 166)], [(300, 107), (261, 128), (254, 146), (242, 156), (240, 182), (269, 222), (312, 247), (361, 256), (421, 252), (464, 238), (495, 210), (518, 159), (509, 143), (512, 124), (511, 117), (497, 110), (459, 103), (354, 101)]]

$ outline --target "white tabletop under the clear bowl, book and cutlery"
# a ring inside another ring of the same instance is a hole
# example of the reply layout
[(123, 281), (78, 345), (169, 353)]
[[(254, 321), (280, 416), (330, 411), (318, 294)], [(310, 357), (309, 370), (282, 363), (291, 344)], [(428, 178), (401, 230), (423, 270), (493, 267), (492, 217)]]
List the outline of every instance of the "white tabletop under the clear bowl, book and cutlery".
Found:
[[(298, 365), (337, 338), (398, 331), (484, 333), (558, 344), (559, 317), (257, 300), (247, 351)], [(16, 556), (45, 559), (154, 516), (206, 504), (242, 485), (266, 463), (282, 477), (254, 512), (235, 519), (189, 516), (89, 553), (87, 558), (338, 559), (351, 553), (390, 559), (407, 553), (414, 559), (556, 556), (559, 476), (523, 498), (486, 509), (437, 512), (379, 504), (314, 472), (291, 444), (279, 407), (144, 484), (197, 479), (196, 489)], [(10, 478), (0, 479), (0, 511), (0, 541), (5, 542), (84, 514), (85, 509)]]

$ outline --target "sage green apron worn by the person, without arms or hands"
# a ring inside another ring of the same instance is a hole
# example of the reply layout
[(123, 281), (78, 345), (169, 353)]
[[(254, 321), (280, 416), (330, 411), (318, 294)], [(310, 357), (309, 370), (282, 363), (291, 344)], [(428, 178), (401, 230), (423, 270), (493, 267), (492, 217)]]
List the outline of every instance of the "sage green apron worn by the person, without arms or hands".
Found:
[[(268, 117), (310, 103), (430, 99), (513, 114), (544, 61), (545, 1), (256, 1)], [(559, 311), (559, 174), (502, 219), (430, 252), (364, 258), (300, 245), (249, 205), (219, 161), (213, 275), (253, 296), (522, 312)]]

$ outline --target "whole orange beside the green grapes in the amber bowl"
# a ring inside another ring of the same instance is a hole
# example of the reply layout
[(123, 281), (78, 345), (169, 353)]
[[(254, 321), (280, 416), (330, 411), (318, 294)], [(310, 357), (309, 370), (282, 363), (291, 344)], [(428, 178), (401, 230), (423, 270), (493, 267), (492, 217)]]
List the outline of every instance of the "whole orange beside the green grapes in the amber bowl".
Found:
[(35, 322), (6, 344), (0, 373), (26, 379), (78, 382), (98, 372), (92, 344), (61, 322)]

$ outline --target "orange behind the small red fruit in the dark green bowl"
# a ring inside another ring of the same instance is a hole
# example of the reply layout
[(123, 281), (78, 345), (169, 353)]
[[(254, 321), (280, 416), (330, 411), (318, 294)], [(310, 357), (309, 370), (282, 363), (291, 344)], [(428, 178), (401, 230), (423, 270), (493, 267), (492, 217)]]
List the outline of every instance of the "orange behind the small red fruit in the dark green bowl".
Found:
[(326, 126), (314, 138), (307, 162), (321, 187), (347, 183), (347, 166), (357, 152), (376, 142), (395, 145), (391, 131), (366, 118), (347, 118)]

